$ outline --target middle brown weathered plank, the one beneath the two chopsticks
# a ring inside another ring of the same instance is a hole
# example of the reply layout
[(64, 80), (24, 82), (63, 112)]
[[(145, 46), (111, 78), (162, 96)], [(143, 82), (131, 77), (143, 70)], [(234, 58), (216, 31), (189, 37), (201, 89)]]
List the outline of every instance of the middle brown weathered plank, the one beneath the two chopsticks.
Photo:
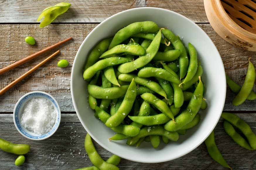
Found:
[[(58, 48), (61, 51), (59, 55), (40, 67), (37, 71), (5, 94), (1, 95), (0, 112), (12, 112), (16, 102), (21, 96), (36, 90), (45, 91), (54, 96), (59, 102), (61, 111), (75, 111), (70, 93), (72, 63), (82, 41), (96, 25), (97, 24), (54, 24), (45, 29), (39, 29), (36, 24), (0, 25), (0, 68), (65, 38), (74, 38), (74, 40), (67, 42)], [(199, 26), (215, 43), (228, 75), (238, 84), (242, 85), (248, 67), (248, 56), (252, 57), (251, 61), (256, 66), (256, 53), (242, 51), (231, 44), (228, 44), (216, 34), (210, 24), (199, 24)], [(8, 34), (6, 34), (6, 32)], [(24, 38), (28, 35), (35, 37), (35, 46), (30, 46), (25, 43)], [(53, 52), (54, 50), (0, 75), (0, 88), (9, 84), (34, 65), (38, 64), (42, 58), (46, 58), (46, 56)], [(63, 58), (69, 61), (69, 66), (66, 68), (57, 67), (57, 62)], [(255, 86), (253, 90), (256, 91)], [(246, 101), (243, 105), (233, 106), (231, 104), (233, 98), (234, 94), (228, 89), (224, 110), (255, 110), (255, 101)]]

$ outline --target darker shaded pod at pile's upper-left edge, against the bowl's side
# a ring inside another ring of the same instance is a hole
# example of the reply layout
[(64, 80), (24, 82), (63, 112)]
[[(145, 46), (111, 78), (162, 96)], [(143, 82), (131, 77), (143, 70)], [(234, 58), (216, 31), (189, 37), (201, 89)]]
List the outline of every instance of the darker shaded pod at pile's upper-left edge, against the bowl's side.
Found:
[(86, 65), (84, 66), (84, 70), (88, 67), (94, 65), (98, 60), (101, 54), (107, 51), (108, 46), (113, 38), (107, 38), (101, 40), (89, 53), (86, 61)]

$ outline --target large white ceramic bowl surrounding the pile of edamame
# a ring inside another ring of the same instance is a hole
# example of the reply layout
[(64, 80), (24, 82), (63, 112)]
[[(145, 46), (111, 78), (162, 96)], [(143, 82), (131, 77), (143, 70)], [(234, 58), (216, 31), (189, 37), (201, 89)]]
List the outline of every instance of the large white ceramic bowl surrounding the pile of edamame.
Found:
[[(203, 66), (203, 80), (206, 85), (204, 98), (208, 107), (200, 110), (200, 123), (180, 135), (177, 142), (170, 141), (154, 149), (150, 143), (140, 147), (126, 145), (126, 140), (108, 141), (115, 134), (94, 117), (88, 106), (87, 82), (83, 79), (86, 56), (100, 40), (114, 36), (115, 32), (138, 21), (154, 21), (159, 27), (167, 27), (180, 36), (185, 44), (192, 43), (197, 49), (198, 59)], [(92, 138), (106, 150), (122, 158), (136, 162), (157, 163), (181, 157), (199, 146), (219, 121), (226, 96), (225, 70), (218, 50), (208, 35), (194, 22), (173, 11), (161, 8), (134, 8), (117, 13), (95, 27), (81, 44), (71, 72), (71, 94), (78, 118)]]

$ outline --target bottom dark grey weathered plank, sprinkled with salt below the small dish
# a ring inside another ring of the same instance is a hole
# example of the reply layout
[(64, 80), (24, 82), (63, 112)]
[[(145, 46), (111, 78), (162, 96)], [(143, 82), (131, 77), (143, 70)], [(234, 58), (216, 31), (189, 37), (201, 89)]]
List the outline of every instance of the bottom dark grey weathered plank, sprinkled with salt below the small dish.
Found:
[[(56, 133), (42, 141), (28, 140), (16, 130), (12, 120), (12, 114), (0, 114), (6, 122), (0, 124), (0, 136), (13, 143), (27, 143), (31, 150), (25, 155), (26, 161), (21, 167), (16, 167), (14, 161), (18, 155), (6, 153), (0, 150), (1, 169), (75, 169), (91, 166), (91, 162), (84, 149), (84, 137), (86, 131), (75, 114), (63, 114), (61, 124)], [(256, 133), (256, 113), (236, 114), (244, 119)], [(68, 119), (71, 118), (71, 122)], [(0, 119), (0, 120), (1, 120)], [(224, 131), (223, 120), (220, 119), (215, 128), (216, 144), (232, 169), (256, 169), (256, 152), (245, 150), (238, 146)], [(95, 143), (95, 147), (103, 159), (112, 154)], [(170, 153), (171, 154), (171, 153)], [(156, 163), (143, 164), (121, 159), (118, 165), (120, 169), (225, 169), (216, 163), (208, 155), (204, 143), (195, 150), (178, 159)]]

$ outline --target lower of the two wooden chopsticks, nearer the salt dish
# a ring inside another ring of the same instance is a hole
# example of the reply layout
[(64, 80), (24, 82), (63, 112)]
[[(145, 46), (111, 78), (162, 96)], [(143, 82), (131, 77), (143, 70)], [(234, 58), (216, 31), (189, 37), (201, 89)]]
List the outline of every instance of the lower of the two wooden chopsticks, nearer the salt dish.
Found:
[(47, 61), (49, 61), (51, 58), (53, 58), (55, 55), (57, 55), (59, 53), (59, 50), (56, 51), (55, 53), (53, 53), (52, 55), (50, 55), (48, 58), (46, 58), (45, 60), (43, 60), (41, 63), (37, 64), (35, 67), (33, 67), (32, 69), (28, 70), (28, 72), (26, 72), (25, 74), (23, 74), (21, 77), (19, 77), (18, 79), (14, 80), (13, 82), (11, 82), (10, 84), (8, 84), (7, 86), (5, 86), (3, 89), (0, 90), (0, 95), (4, 94), (7, 90), (9, 90), (12, 86), (14, 86), (15, 84), (17, 84), (18, 82), (20, 82), (21, 80), (23, 80), (25, 77), (27, 77), (29, 74), (31, 74), (32, 72), (34, 72), (37, 68), (41, 67), (43, 64), (45, 64)]

